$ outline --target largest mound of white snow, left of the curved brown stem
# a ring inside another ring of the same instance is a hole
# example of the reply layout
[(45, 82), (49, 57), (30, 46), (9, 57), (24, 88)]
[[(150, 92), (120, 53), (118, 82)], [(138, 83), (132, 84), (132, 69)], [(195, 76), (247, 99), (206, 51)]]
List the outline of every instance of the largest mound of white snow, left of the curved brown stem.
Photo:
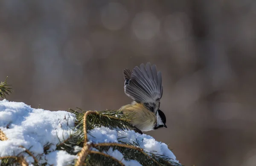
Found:
[[(6, 141), (0, 141), (0, 157), (23, 152), (25, 149), (19, 147), (20, 145), (29, 149), (34, 156), (43, 154), (44, 145), (47, 143), (52, 143), (49, 151), (54, 151), (56, 144), (59, 143), (58, 138), (62, 141), (70, 135), (74, 119), (75, 115), (66, 111), (33, 109), (22, 102), (9, 102), (5, 99), (0, 101), (0, 129), (8, 138)], [(23, 155), (28, 163), (34, 162), (28, 154)], [(55, 166), (62, 166), (61, 163), (68, 162), (76, 156), (55, 151), (43, 155), (42, 159), (44, 158), (51, 159), (50, 163), (55, 163)], [(41, 163), (46, 160), (41, 160)]]

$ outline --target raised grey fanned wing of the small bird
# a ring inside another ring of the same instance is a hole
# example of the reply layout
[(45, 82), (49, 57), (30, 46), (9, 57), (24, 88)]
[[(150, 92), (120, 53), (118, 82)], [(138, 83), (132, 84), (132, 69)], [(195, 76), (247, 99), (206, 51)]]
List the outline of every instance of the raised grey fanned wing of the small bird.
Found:
[(143, 103), (148, 110), (156, 113), (163, 95), (162, 74), (157, 72), (156, 65), (148, 62), (136, 66), (132, 72), (123, 70), (125, 78), (125, 94), (138, 103)]

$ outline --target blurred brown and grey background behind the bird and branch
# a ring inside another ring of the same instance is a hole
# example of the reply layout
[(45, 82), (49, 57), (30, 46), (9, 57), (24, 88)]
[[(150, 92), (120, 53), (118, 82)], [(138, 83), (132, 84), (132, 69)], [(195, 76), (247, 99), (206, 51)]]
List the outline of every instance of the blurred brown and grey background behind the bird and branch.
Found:
[(10, 101), (118, 109), (123, 68), (156, 64), (167, 129), (191, 166), (256, 165), (255, 0), (1, 0), (0, 80)]

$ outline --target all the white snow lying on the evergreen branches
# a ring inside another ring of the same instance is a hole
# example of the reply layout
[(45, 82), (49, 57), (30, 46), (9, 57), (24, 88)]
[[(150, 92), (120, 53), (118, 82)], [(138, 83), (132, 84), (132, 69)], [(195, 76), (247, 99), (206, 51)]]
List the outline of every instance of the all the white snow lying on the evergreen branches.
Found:
[[(55, 150), (59, 139), (67, 139), (73, 132), (75, 115), (66, 111), (49, 111), (43, 109), (31, 108), (23, 102), (10, 102), (4, 99), (0, 101), (0, 130), (6, 135), (8, 140), (0, 141), (0, 157), (22, 155), (26, 161), (31, 164), (34, 159), (24, 152), (24, 146), (29, 149), (34, 156), (42, 155), (39, 163), (47, 162), (52, 166), (66, 166), (71, 164), (77, 155), (70, 155), (63, 150)], [(90, 130), (87, 135), (88, 141), (93, 143), (118, 141), (133, 143), (136, 142), (146, 152), (165, 155), (176, 160), (175, 155), (168, 149), (165, 143), (156, 141), (149, 135), (140, 135), (132, 131), (122, 131), (120, 129), (109, 129), (98, 127)], [(49, 153), (44, 154), (44, 145), (51, 143)], [(79, 152), (81, 148), (75, 146), (75, 151)], [(110, 148), (108, 155), (120, 160), (126, 166), (141, 166), (135, 160), (124, 160), (123, 155), (118, 150)], [(39, 159), (39, 158), (38, 158)], [(0, 160), (1, 163), (1, 160)]]

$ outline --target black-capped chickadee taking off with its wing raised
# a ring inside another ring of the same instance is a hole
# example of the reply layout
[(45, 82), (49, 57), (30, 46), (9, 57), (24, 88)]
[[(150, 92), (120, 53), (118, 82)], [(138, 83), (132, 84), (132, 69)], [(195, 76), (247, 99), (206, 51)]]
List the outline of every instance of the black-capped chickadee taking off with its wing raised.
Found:
[(134, 101), (122, 106), (124, 114), (131, 114), (130, 124), (134, 130), (150, 131), (166, 127), (166, 116), (159, 110), (160, 99), (163, 95), (162, 74), (157, 72), (156, 65), (148, 62), (146, 65), (136, 66), (132, 71), (123, 70), (125, 79), (125, 94)]

